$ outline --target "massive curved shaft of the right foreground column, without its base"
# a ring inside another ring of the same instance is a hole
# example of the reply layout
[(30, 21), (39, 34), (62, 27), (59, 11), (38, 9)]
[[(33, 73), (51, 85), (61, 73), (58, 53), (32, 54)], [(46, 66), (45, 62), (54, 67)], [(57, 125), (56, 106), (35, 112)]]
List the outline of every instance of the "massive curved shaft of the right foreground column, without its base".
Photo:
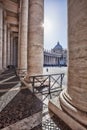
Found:
[(87, 1), (68, 5), (68, 93), (74, 106), (87, 112)]

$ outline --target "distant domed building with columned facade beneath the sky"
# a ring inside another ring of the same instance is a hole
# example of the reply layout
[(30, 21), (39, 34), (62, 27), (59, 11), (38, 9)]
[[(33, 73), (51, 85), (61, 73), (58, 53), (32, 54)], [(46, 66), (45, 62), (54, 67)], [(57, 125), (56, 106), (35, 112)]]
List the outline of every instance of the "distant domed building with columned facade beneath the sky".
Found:
[(59, 42), (51, 51), (44, 50), (44, 66), (67, 66), (67, 50)]

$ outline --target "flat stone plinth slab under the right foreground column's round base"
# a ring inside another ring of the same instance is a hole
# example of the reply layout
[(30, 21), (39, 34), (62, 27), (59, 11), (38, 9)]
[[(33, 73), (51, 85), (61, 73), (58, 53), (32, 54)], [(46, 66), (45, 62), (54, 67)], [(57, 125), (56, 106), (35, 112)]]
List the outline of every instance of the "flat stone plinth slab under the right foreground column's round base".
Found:
[(61, 105), (59, 97), (51, 99), (48, 104), (49, 110), (56, 114), (60, 119), (62, 119), (71, 129), (73, 130), (87, 130), (86, 126), (82, 125), (80, 122), (75, 120), (70, 114), (65, 112)]

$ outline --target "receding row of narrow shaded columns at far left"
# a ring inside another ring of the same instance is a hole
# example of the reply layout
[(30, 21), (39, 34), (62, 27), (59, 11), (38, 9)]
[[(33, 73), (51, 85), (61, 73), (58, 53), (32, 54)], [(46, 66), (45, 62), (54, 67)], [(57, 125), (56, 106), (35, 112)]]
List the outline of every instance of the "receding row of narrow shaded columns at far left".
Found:
[[(14, 60), (17, 60), (13, 58), (13, 52), (15, 51), (15, 48), (13, 48), (15, 32), (14, 35), (11, 34), (10, 25), (5, 20), (5, 13), (6, 11), (3, 5), (0, 4), (0, 72), (8, 66), (15, 66)], [(16, 52), (14, 52), (14, 55), (17, 55)]]

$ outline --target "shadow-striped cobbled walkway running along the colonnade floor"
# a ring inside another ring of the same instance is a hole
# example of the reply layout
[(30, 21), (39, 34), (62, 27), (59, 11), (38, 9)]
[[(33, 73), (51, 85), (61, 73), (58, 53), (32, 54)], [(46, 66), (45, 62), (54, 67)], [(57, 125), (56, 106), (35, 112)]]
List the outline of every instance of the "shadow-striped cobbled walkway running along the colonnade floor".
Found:
[(30, 87), (21, 85), (14, 70), (6, 70), (0, 75), (0, 130), (70, 130), (48, 112), (49, 98), (33, 94)]

